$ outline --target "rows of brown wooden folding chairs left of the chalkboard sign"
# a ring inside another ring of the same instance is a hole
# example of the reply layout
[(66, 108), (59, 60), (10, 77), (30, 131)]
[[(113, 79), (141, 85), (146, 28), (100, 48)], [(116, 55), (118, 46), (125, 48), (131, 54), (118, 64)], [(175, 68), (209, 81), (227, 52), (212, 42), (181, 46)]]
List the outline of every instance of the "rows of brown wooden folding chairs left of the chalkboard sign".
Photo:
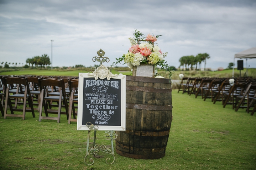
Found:
[[(74, 104), (78, 103), (77, 77), (0, 76), (0, 80), (0, 111), (4, 119), (22, 117), (25, 120), (26, 112), (32, 112), (35, 117), (34, 106), (37, 106), (39, 121), (50, 119), (59, 123), (61, 114), (66, 114), (69, 124), (71, 121), (77, 122), (77, 106)], [(23, 105), (23, 108), (19, 105)], [(7, 114), (8, 108), (11, 114)], [(58, 116), (50, 117), (51, 113)]]

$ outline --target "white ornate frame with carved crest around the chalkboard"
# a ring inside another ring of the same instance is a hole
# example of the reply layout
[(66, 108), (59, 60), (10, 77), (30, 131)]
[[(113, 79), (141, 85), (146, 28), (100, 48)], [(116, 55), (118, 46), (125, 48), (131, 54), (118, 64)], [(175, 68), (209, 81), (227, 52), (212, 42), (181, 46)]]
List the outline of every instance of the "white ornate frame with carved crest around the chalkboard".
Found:
[(79, 83), (78, 83), (78, 111), (77, 111), (77, 130), (90, 130), (88, 126), (82, 125), (83, 120), (83, 87), (84, 78), (94, 78), (95, 80), (105, 79), (119, 79), (121, 80), (121, 125), (120, 126), (104, 126), (97, 125), (98, 130), (117, 130), (125, 131), (125, 106), (126, 106), (126, 81), (125, 75), (112, 74), (109, 69), (101, 64), (93, 73), (79, 73)]

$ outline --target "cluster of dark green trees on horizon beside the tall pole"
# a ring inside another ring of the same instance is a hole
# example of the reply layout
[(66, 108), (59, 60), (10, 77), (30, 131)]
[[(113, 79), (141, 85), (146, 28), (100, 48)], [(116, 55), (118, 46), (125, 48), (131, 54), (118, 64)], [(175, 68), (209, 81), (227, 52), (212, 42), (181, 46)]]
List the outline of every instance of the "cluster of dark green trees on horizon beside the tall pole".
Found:
[(32, 58), (27, 58), (26, 63), (31, 66), (35, 67), (47, 67), (47, 65), (51, 64), (50, 58), (47, 54), (44, 54), (42, 56), (35, 56)]

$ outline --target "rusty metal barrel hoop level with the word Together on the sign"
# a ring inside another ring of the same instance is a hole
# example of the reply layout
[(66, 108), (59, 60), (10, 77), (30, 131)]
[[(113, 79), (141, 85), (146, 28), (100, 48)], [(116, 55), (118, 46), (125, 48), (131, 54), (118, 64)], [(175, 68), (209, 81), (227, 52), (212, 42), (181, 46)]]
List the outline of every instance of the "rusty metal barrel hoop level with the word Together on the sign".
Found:
[(157, 105), (150, 105), (150, 104), (126, 103), (126, 108), (128, 108), (128, 109), (149, 110), (149, 111), (171, 111), (172, 110), (172, 104), (170, 104), (168, 106), (157, 106)]

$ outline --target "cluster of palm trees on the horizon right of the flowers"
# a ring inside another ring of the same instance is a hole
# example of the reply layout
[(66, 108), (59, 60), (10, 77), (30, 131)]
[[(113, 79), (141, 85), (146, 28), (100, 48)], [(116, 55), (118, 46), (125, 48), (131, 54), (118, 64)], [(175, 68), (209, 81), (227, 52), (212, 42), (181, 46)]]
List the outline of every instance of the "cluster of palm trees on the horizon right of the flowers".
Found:
[[(210, 56), (208, 53), (199, 53), (197, 56), (183, 56), (179, 59), (179, 62), (181, 63), (179, 68), (182, 66), (184, 69), (188, 70), (189, 66), (191, 70), (193, 70), (193, 66), (195, 66), (195, 70), (201, 69), (201, 64), (204, 62), (204, 70), (206, 66), (206, 59), (209, 59)], [(200, 68), (199, 68), (200, 67)]]

